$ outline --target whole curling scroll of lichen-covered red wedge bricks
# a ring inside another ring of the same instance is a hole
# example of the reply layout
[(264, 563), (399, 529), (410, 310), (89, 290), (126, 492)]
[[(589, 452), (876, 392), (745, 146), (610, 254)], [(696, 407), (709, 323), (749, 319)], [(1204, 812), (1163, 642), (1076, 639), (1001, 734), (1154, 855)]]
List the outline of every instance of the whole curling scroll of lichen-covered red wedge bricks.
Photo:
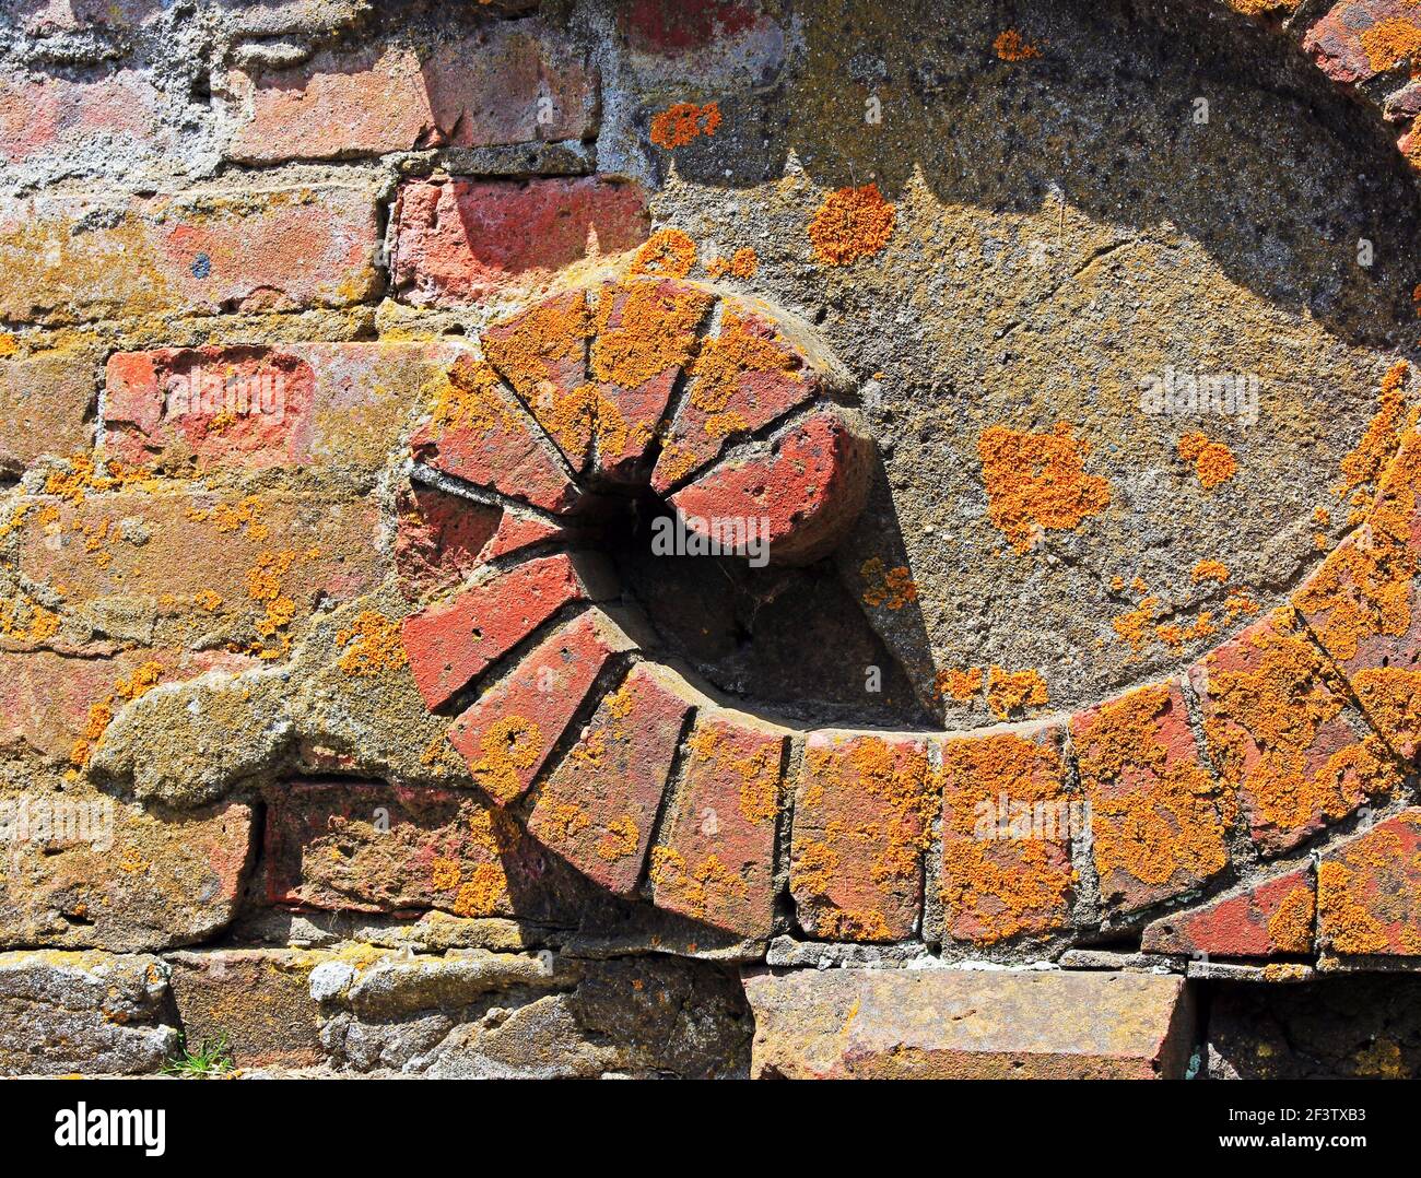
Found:
[[(1293, 605), (1179, 679), (1073, 716), (791, 732), (664, 665), (597, 553), (608, 496), (666, 493), (689, 531), (760, 517), (770, 560), (821, 557), (864, 502), (868, 443), (844, 392), (783, 313), (608, 279), (486, 328), (414, 436), (416, 480), (502, 514), (405, 621), (411, 669), (473, 780), (588, 878), (763, 939), (791, 823), (784, 867), (811, 936), (990, 951), (1138, 926), (1259, 861), (1295, 880), (1300, 847), (1404, 799), (1421, 739), (1414, 422)], [(1148, 944), (1179, 944), (1158, 924)]]

